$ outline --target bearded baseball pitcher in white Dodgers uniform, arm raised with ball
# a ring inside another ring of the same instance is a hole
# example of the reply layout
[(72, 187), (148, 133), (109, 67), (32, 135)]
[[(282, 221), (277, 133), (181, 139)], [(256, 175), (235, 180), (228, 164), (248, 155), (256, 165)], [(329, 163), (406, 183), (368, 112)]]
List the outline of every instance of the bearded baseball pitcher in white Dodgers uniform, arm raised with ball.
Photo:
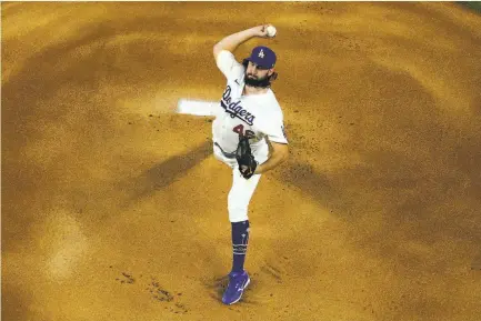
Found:
[[(232, 169), (232, 188), (228, 197), (232, 225), (233, 263), (222, 302), (238, 302), (250, 282), (244, 270), (249, 241), (248, 205), (261, 174), (288, 158), (288, 140), (283, 114), (271, 90), (277, 78), (277, 56), (268, 47), (253, 48), (239, 63), (234, 50), (247, 40), (271, 38), (272, 26), (253, 27), (223, 38), (213, 47), (217, 67), (227, 79), (227, 87), (214, 107), (212, 139), (214, 157)], [(269, 154), (270, 142), (272, 149)]]

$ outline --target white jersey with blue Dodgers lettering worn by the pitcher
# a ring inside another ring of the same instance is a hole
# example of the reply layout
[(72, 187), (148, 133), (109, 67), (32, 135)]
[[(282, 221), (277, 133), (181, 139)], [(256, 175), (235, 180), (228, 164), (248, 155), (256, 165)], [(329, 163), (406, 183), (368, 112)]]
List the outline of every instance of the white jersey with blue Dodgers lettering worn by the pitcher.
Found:
[(227, 78), (227, 88), (214, 110), (212, 139), (226, 152), (233, 152), (239, 143), (239, 133), (248, 136), (252, 150), (270, 141), (288, 143), (283, 114), (274, 93), (242, 96), (245, 68), (236, 61), (233, 54), (222, 50), (217, 66)]

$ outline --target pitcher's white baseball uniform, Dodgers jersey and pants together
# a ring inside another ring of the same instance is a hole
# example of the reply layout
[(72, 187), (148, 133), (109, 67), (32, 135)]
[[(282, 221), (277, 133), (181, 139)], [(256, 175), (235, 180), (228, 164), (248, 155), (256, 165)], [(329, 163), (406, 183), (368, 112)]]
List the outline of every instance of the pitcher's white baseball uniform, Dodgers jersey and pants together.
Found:
[(265, 93), (243, 96), (245, 68), (229, 51), (222, 50), (218, 54), (217, 66), (227, 78), (227, 88), (213, 110), (213, 150), (218, 160), (232, 168), (233, 182), (228, 197), (229, 220), (241, 222), (248, 220), (248, 205), (261, 174), (247, 180), (239, 172), (234, 158), (239, 133), (252, 137), (249, 142), (259, 163), (269, 158), (265, 138), (278, 143), (288, 143), (288, 140), (282, 110), (272, 90), (269, 88)]

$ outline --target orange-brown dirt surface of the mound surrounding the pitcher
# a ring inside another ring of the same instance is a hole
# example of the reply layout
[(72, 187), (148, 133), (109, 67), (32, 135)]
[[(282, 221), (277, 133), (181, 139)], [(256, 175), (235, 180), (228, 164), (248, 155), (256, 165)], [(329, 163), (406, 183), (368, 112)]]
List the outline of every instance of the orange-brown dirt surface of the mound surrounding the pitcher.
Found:
[[(2, 318), (481, 320), (481, 18), (450, 2), (2, 3)], [(242, 302), (211, 48), (263, 22), (289, 162)]]

